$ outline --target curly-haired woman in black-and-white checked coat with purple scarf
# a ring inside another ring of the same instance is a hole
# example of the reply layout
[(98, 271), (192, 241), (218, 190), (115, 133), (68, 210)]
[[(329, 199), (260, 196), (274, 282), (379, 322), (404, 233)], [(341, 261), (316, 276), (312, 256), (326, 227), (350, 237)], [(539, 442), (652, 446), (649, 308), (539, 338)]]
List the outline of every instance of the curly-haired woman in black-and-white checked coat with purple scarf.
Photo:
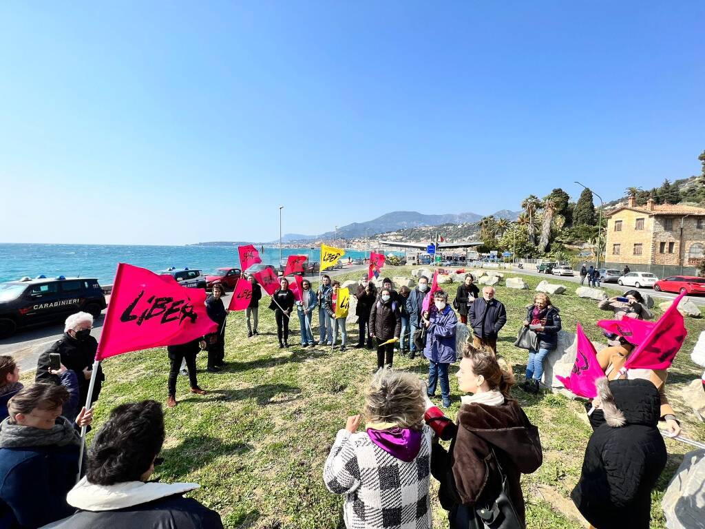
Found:
[(431, 528), (424, 392), (410, 373), (380, 370), (365, 394), (364, 432), (357, 432), (360, 415), (338, 432), (323, 478), (345, 495), (348, 529)]

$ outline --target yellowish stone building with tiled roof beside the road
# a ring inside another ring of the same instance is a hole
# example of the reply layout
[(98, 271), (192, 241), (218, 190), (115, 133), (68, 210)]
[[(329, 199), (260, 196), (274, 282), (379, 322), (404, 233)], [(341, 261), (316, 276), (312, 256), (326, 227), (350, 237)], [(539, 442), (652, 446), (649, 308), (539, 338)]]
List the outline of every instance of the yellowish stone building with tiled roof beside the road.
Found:
[[(605, 215), (605, 261), (629, 265), (697, 267), (705, 258), (705, 209), (654, 204), (626, 206)], [(685, 273), (685, 269), (683, 272)], [(673, 272), (675, 273), (675, 272)]]

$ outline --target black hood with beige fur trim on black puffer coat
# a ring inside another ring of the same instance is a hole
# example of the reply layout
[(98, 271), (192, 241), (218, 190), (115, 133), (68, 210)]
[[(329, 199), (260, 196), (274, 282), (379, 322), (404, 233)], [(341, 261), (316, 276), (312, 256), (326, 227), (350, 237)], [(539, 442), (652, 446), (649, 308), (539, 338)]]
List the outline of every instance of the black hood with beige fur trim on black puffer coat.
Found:
[(595, 381), (596, 403), (611, 427), (625, 424), (656, 426), (661, 415), (661, 396), (656, 386), (643, 379), (613, 380), (607, 377)]

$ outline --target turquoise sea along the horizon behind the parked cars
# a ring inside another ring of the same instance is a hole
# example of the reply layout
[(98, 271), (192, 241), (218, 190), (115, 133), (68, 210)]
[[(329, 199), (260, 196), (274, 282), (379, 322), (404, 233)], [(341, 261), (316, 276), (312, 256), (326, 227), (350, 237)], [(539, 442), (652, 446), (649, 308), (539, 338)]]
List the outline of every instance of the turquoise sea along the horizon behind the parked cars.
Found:
[[(259, 257), (265, 265), (276, 266), (279, 248), (261, 247)], [(286, 262), (289, 255), (308, 255), (320, 262), (320, 248), (282, 248)], [(362, 258), (363, 250), (345, 250), (348, 257)], [(401, 254), (400, 254), (401, 255)], [(0, 243), (0, 281), (16, 281), (24, 276), (79, 276), (97, 278), (101, 284), (112, 284), (118, 262), (125, 262), (153, 272), (169, 267), (197, 268), (205, 273), (219, 267), (240, 267), (237, 246), (128, 246), (87, 244), (8, 244)]]

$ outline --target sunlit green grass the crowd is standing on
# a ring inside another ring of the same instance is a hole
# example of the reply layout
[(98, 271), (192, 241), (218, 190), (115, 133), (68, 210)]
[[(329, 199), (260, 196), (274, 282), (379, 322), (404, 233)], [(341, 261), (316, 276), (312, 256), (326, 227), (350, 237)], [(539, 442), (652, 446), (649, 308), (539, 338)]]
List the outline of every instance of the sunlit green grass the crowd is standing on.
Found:
[[(410, 268), (388, 270), (389, 276), (408, 275)], [(513, 274), (508, 274), (509, 276)], [(341, 279), (357, 279), (360, 273)], [(497, 298), (505, 303), (508, 324), (498, 341), (498, 352), (523, 376), (525, 351), (513, 341), (532, 302), (533, 289), (542, 278), (523, 276), (532, 290), (496, 288)], [(597, 309), (597, 302), (575, 296), (576, 285), (562, 283), (568, 291), (552, 296), (560, 308), (563, 328), (575, 332), (580, 321), (586, 334), (602, 340), (596, 320), (609, 317)], [(502, 285), (504, 281), (502, 281)], [(451, 299), (457, 284), (448, 286)], [(376, 353), (349, 349), (345, 353), (329, 348), (288, 350), (278, 348), (276, 324), (268, 303), (260, 304), (260, 334), (247, 339), (244, 312), (232, 313), (226, 329), (226, 360), (229, 367), (212, 375), (204, 371), (205, 354), (199, 355), (201, 387), (209, 393), (195, 396), (188, 392), (188, 381), (179, 377), (176, 408), (165, 407), (166, 442), (164, 464), (157, 470), (162, 481), (193, 481), (201, 488), (192, 493), (223, 517), (227, 528), (338, 528), (342, 522), (342, 498), (330, 494), (321, 478), (325, 458), (336, 431), (348, 415), (359, 413), (369, 373), (376, 366)], [(314, 324), (317, 317), (314, 317)], [(703, 320), (687, 319), (689, 336), (670, 370), (668, 396), (678, 412), (685, 434), (705, 440), (705, 428), (680, 401), (678, 390), (699, 377), (699, 368), (689, 360)], [(298, 344), (298, 319), (290, 343)], [(348, 324), (348, 343), (357, 341), (357, 325)], [(395, 358), (395, 366), (427, 375), (427, 362)], [(166, 400), (168, 359), (164, 348), (109, 358), (104, 362), (106, 382), (97, 405), (95, 425), (104, 422), (110, 409), (119, 403), (140, 399)], [(450, 370), (455, 417), (460, 393)], [(570, 490), (582, 466), (590, 428), (584, 408), (563, 396), (543, 393), (532, 397), (516, 389), (515, 397), (529, 418), (539, 426), (544, 447), (544, 464), (537, 473), (522, 478), (527, 499), (527, 523), (531, 528), (579, 528), (577, 521), (563, 511), (570, 506)], [(663, 528), (660, 502), (670, 477), (678, 468), (688, 447), (667, 441), (669, 463), (654, 492), (653, 527)], [(541, 490), (539, 490), (539, 486)], [(553, 492), (546, 495), (548, 491)], [(432, 485), (437, 490), (437, 484)], [(558, 498), (558, 499), (556, 499)], [(562, 500), (561, 500), (562, 499)], [(566, 500), (568, 499), (568, 500)], [(446, 513), (434, 501), (434, 525), (447, 525)]]

